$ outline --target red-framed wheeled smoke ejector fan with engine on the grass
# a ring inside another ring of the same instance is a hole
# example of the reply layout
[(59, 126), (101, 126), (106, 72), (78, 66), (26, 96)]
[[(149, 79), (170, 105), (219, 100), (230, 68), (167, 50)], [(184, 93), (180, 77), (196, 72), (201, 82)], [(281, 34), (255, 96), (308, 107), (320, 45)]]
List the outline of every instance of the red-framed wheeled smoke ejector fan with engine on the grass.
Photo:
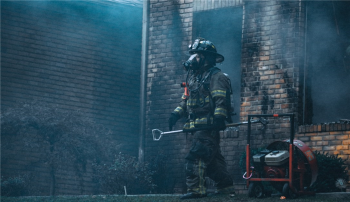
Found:
[[(274, 141), (259, 153), (250, 155), (250, 123), (248, 121), (246, 145), (246, 175), (248, 195), (263, 197), (262, 181), (287, 198), (302, 194), (314, 194), (308, 191), (317, 178), (317, 161), (311, 149), (302, 141), (294, 139), (293, 114), (261, 114), (251, 117), (289, 116), (290, 139)], [(252, 157), (252, 159), (250, 159)], [(250, 164), (251, 163), (251, 164)], [(249, 173), (249, 174), (248, 174)], [(250, 175), (250, 176), (249, 176)]]

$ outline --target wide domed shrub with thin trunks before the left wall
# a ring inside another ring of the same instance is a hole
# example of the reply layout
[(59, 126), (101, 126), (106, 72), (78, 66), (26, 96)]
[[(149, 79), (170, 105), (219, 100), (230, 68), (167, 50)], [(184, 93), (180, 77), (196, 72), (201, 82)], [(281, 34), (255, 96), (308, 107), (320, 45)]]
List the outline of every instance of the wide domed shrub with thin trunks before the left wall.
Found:
[(14, 159), (21, 161), (14, 162), (18, 170), (31, 173), (39, 168), (49, 173), (50, 184), (45, 188), (50, 195), (55, 195), (57, 173), (68, 173), (68, 169), (83, 193), (86, 164), (93, 159), (110, 159), (117, 149), (111, 132), (82, 111), (40, 101), (1, 111), (0, 128), (0, 166), (13, 164)]

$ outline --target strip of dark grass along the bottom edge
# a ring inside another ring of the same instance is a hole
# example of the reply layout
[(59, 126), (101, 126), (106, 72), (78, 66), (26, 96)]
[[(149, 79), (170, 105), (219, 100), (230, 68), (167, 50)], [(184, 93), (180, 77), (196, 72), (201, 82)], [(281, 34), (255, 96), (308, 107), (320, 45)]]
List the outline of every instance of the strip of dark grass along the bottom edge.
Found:
[[(345, 195), (343, 199), (334, 195), (318, 195), (315, 196), (299, 196), (295, 199), (285, 199), (286, 201), (292, 202), (338, 202), (347, 201), (350, 194)], [(198, 199), (186, 199), (180, 200), (179, 195), (84, 195), (84, 196), (31, 196), (31, 197), (0, 197), (1, 202), (15, 202), (15, 201), (25, 201), (25, 202), (66, 202), (66, 201), (84, 201), (84, 202), (175, 202), (175, 201), (197, 201), (197, 202), (228, 202), (228, 201), (239, 201), (239, 202), (276, 202), (281, 201), (278, 196), (265, 197), (265, 198), (254, 198), (248, 197), (245, 194), (239, 194), (230, 198), (227, 195), (219, 196), (208, 196), (205, 198)]]

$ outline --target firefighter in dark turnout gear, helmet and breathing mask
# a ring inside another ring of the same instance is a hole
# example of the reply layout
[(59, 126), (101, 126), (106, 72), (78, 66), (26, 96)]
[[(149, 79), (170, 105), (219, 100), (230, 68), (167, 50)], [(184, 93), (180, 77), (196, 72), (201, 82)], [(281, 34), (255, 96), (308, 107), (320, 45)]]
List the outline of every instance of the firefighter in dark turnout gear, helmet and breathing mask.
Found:
[[(187, 70), (186, 87), (179, 105), (171, 112), (169, 130), (181, 117), (186, 117), (183, 129), (206, 127), (194, 133), (192, 145), (185, 156), (187, 193), (180, 199), (205, 197), (205, 177), (215, 182), (215, 194), (233, 195), (233, 181), (221, 154), (219, 131), (225, 129), (229, 117), (229, 81), (215, 67), (224, 60), (214, 44), (197, 37), (188, 51), (190, 57), (183, 62)], [(188, 78), (189, 73), (191, 76)]]

